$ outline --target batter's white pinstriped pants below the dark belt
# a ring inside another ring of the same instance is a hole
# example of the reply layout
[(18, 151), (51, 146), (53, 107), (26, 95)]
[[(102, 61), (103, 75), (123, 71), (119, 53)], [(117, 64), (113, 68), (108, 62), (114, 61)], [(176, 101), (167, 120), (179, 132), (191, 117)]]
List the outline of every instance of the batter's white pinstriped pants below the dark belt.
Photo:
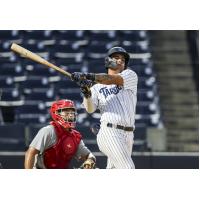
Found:
[(101, 125), (97, 134), (97, 144), (107, 159), (107, 169), (134, 169), (131, 158), (133, 147), (133, 132)]

